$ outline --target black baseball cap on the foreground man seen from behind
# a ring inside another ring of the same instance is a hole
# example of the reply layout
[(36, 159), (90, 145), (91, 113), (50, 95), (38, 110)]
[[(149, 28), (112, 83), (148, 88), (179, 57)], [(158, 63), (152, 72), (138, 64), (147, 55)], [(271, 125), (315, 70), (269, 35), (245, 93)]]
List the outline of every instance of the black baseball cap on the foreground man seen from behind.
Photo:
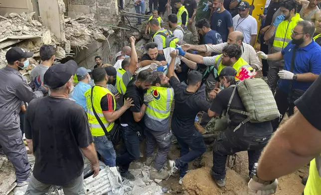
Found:
[(55, 64), (49, 67), (43, 76), (43, 84), (52, 89), (65, 85), (71, 76), (77, 71), (78, 65), (75, 61), (69, 60), (65, 64)]

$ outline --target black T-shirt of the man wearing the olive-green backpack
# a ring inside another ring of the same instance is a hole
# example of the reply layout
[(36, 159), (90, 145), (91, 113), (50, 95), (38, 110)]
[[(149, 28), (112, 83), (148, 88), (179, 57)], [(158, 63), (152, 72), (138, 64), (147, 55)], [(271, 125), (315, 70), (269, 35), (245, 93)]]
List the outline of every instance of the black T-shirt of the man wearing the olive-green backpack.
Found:
[[(217, 114), (222, 114), (223, 110), (227, 110), (228, 102), (232, 96), (234, 87), (230, 87), (222, 90), (217, 94), (215, 99), (212, 102), (210, 110)], [(241, 97), (238, 95), (237, 91), (234, 94), (232, 99), (230, 109), (237, 109), (241, 111), (246, 111), (242, 103)], [(247, 118), (244, 114), (239, 114), (236, 112), (228, 111), (231, 123), (229, 124), (230, 129), (233, 129), (240, 124), (243, 120)], [(270, 121), (261, 122), (261, 123), (251, 123), (247, 122), (243, 124), (237, 131), (237, 134), (242, 136), (253, 136), (253, 135), (270, 135), (272, 134), (272, 125)]]

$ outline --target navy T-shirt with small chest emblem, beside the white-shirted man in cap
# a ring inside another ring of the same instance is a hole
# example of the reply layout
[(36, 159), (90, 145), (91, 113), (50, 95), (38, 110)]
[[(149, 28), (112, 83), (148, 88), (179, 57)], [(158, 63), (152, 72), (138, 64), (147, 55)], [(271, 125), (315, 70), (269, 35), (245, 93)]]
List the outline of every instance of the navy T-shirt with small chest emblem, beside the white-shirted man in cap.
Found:
[(215, 11), (211, 18), (211, 29), (216, 30), (222, 37), (223, 42), (227, 41), (228, 28), (233, 27), (232, 15), (229, 11), (224, 10), (221, 13)]

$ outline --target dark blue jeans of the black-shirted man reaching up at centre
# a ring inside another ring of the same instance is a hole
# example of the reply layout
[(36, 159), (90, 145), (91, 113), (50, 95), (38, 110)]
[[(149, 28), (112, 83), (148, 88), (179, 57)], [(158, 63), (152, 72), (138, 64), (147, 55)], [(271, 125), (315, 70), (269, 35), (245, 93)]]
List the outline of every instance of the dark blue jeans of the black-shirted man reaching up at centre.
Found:
[(175, 160), (175, 166), (179, 169), (180, 177), (183, 178), (188, 170), (188, 163), (201, 156), (206, 151), (206, 146), (202, 134), (196, 130), (192, 136), (175, 136), (180, 147), (180, 158)]

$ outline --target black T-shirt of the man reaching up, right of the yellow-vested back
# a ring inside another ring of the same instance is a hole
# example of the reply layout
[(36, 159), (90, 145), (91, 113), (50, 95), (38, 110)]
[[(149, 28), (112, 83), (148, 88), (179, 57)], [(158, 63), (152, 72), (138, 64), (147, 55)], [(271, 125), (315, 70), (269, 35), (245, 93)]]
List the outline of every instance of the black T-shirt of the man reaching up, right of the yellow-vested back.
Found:
[(186, 91), (186, 86), (171, 76), (170, 85), (174, 90), (175, 106), (171, 118), (171, 130), (179, 137), (189, 137), (194, 134), (195, 116), (199, 111), (207, 112), (209, 103), (198, 93)]

